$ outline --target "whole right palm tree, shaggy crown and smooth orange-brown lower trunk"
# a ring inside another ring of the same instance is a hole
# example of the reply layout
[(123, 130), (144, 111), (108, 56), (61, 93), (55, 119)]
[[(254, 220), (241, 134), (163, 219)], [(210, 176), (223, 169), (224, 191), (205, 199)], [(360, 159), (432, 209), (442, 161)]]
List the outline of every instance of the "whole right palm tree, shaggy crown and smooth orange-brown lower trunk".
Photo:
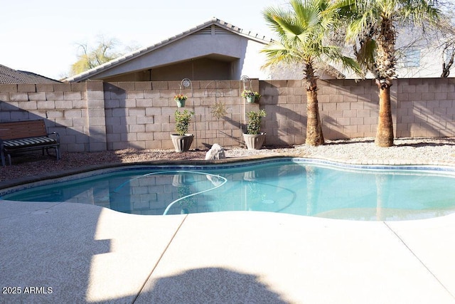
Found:
[[(439, 10), (434, 0), (338, 0), (350, 21), (346, 38), (358, 42), (358, 62), (375, 75), (379, 88), (379, 117), (375, 143), (379, 147), (393, 145), (390, 86), (397, 78), (395, 37), (397, 24), (434, 22)], [(346, 4), (350, 4), (346, 6)]]

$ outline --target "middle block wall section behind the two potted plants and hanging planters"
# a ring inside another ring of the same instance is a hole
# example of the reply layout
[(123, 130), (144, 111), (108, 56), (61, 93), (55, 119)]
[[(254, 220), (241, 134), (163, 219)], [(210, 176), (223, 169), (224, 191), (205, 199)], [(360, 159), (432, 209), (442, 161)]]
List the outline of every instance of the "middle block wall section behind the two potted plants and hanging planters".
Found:
[[(243, 88), (234, 80), (193, 81), (188, 88), (180, 81), (105, 83), (107, 149), (171, 149), (176, 110), (195, 113), (188, 130), (195, 135), (193, 148), (238, 146), (245, 111), (259, 110), (259, 104), (245, 105)], [(259, 91), (259, 81), (247, 88)], [(185, 108), (173, 100), (179, 93), (188, 96)], [(220, 119), (214, 115), (217, 105), (225, 109)]]

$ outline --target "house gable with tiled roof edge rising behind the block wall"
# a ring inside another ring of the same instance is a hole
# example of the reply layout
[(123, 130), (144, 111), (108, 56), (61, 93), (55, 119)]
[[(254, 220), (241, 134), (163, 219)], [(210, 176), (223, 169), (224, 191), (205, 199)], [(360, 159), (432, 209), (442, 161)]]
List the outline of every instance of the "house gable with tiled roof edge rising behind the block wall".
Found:
[[(263, 62), (257, 61), (259, 50), (269, 41), (219, 19), (211, 19), (189, 31), (65, 81), (239, 79), (245, 73), (245, 67), (251, 66), (251, 71), (253, 68), (259, 70)], [(246, 58), (257, 63), (245, 63)]]

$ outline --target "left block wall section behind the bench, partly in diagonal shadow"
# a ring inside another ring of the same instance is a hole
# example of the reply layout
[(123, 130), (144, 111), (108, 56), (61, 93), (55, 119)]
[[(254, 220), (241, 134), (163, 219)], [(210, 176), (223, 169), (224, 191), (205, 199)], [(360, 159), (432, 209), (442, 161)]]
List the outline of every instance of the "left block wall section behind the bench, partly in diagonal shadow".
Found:
[(38, 119), (63, 151), (90, 151), (87, 83), (0, 84), (0, 122)]

